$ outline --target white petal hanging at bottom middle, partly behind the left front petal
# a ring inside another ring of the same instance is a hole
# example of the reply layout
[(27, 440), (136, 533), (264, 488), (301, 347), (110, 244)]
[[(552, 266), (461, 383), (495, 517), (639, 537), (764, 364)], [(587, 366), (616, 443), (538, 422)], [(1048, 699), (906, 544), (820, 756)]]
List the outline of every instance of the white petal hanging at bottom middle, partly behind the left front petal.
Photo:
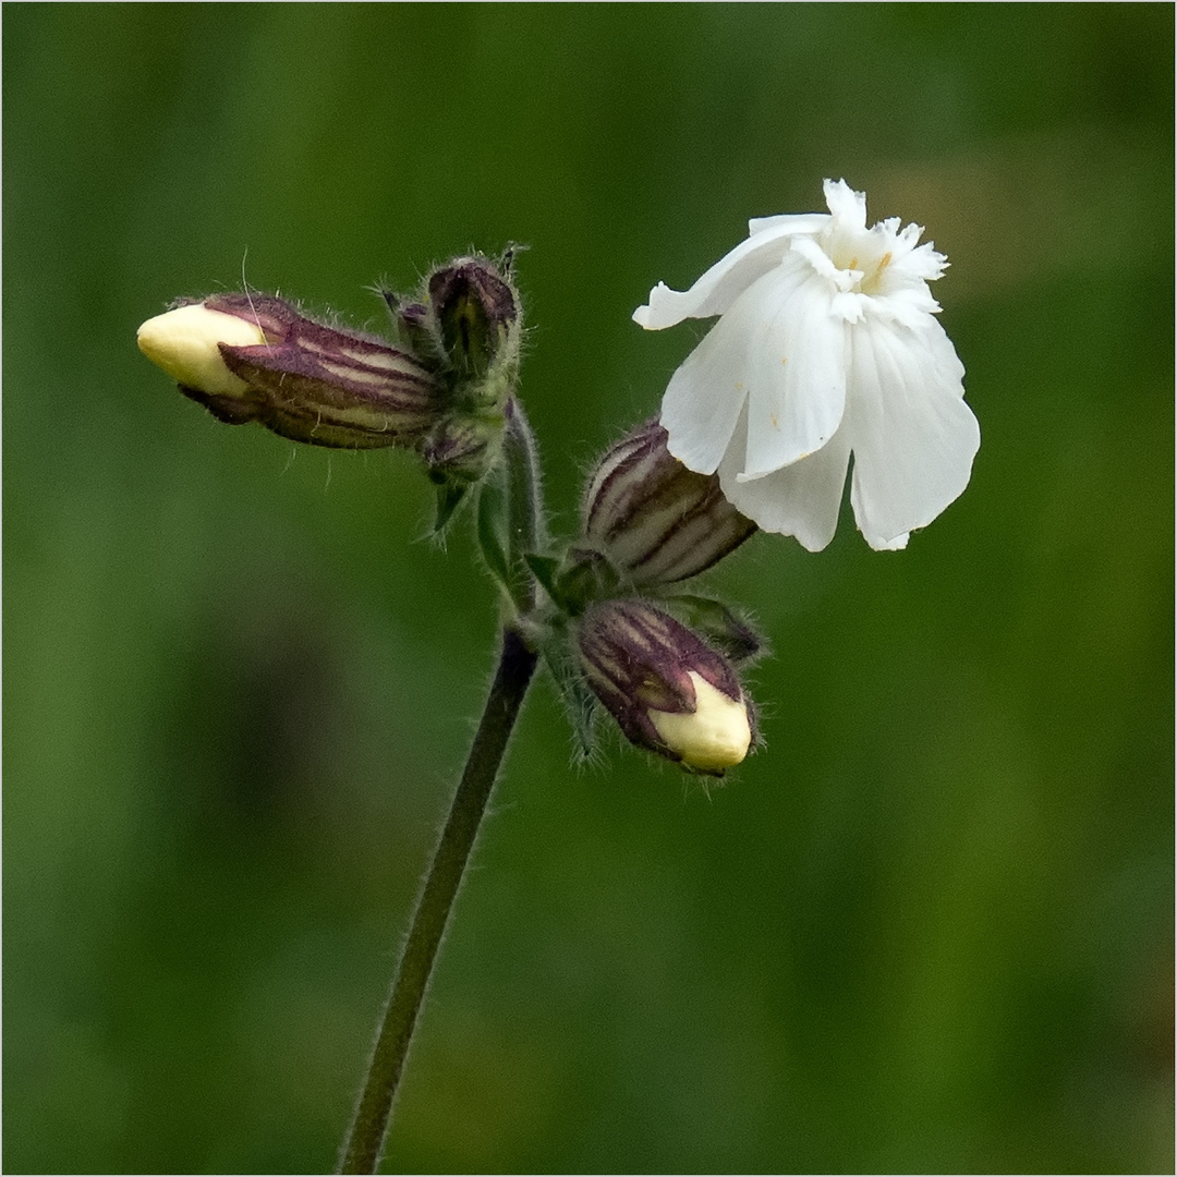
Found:
[(753, 483), (739, 481), (744, 466), (743, 438), (747, 417), (736, 427), (732, 446), (719, 466), (719, 485), (727, 500), (763, 531), (796, 536), (811, 552), (820, 552), (838, 527), (842, 490), (850, 465), (850, 440), (839, 430), (827, 445), (800, 461)]

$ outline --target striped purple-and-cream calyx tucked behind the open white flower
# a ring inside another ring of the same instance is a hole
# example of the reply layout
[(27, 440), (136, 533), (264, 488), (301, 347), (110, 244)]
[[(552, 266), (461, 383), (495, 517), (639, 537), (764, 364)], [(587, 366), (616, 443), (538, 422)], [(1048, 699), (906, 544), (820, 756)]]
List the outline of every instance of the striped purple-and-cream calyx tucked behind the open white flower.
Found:
[(588, 480), (583, 520), (578, 548), (604, 554), (634, 587), (693, 577), (756, 531), (716, 474), (697, 474), (671, 454), (656, 420), (606, 451)]

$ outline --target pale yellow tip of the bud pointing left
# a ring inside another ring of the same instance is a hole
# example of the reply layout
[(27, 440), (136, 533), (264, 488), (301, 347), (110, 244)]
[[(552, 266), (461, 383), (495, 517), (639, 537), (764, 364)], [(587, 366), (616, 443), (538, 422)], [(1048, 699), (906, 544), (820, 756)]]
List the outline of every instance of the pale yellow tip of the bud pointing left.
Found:
[(218, 344), (250, 347), (266, 343), (262, 330), (202, 302), (178, 306), (139, 328), (139, 351), (173, 380), (210, 395), (239, 397), (248, 385), (226, 366)]

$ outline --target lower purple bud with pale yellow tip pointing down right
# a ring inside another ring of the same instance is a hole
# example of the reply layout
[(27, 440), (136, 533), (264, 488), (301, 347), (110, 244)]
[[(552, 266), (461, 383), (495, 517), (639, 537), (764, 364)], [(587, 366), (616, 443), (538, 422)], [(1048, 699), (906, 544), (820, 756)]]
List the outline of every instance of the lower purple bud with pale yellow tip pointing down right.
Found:
[(736, 671), (661, 610), (592, 605), (577, 643), (590, 687), (633, 744), (717, 777), (747, 756), (752, 722)]

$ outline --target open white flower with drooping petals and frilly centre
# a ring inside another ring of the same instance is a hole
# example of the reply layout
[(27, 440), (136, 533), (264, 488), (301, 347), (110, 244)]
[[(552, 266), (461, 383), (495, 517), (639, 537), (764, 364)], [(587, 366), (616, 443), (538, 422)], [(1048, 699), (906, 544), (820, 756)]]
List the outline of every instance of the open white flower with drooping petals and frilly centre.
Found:
[(866, 227), (866, 198), (825, 181), (830, 213), (749, 222), (689, 291), (659, 282), (649, 331), (719, 322), (671, 378), (669, 448), (765, 531), (811, 552), (851, 503), (871, 547), (899, 548), (969, 483), (980, 431), (927, 282), (947, 260), (918, 225)]

